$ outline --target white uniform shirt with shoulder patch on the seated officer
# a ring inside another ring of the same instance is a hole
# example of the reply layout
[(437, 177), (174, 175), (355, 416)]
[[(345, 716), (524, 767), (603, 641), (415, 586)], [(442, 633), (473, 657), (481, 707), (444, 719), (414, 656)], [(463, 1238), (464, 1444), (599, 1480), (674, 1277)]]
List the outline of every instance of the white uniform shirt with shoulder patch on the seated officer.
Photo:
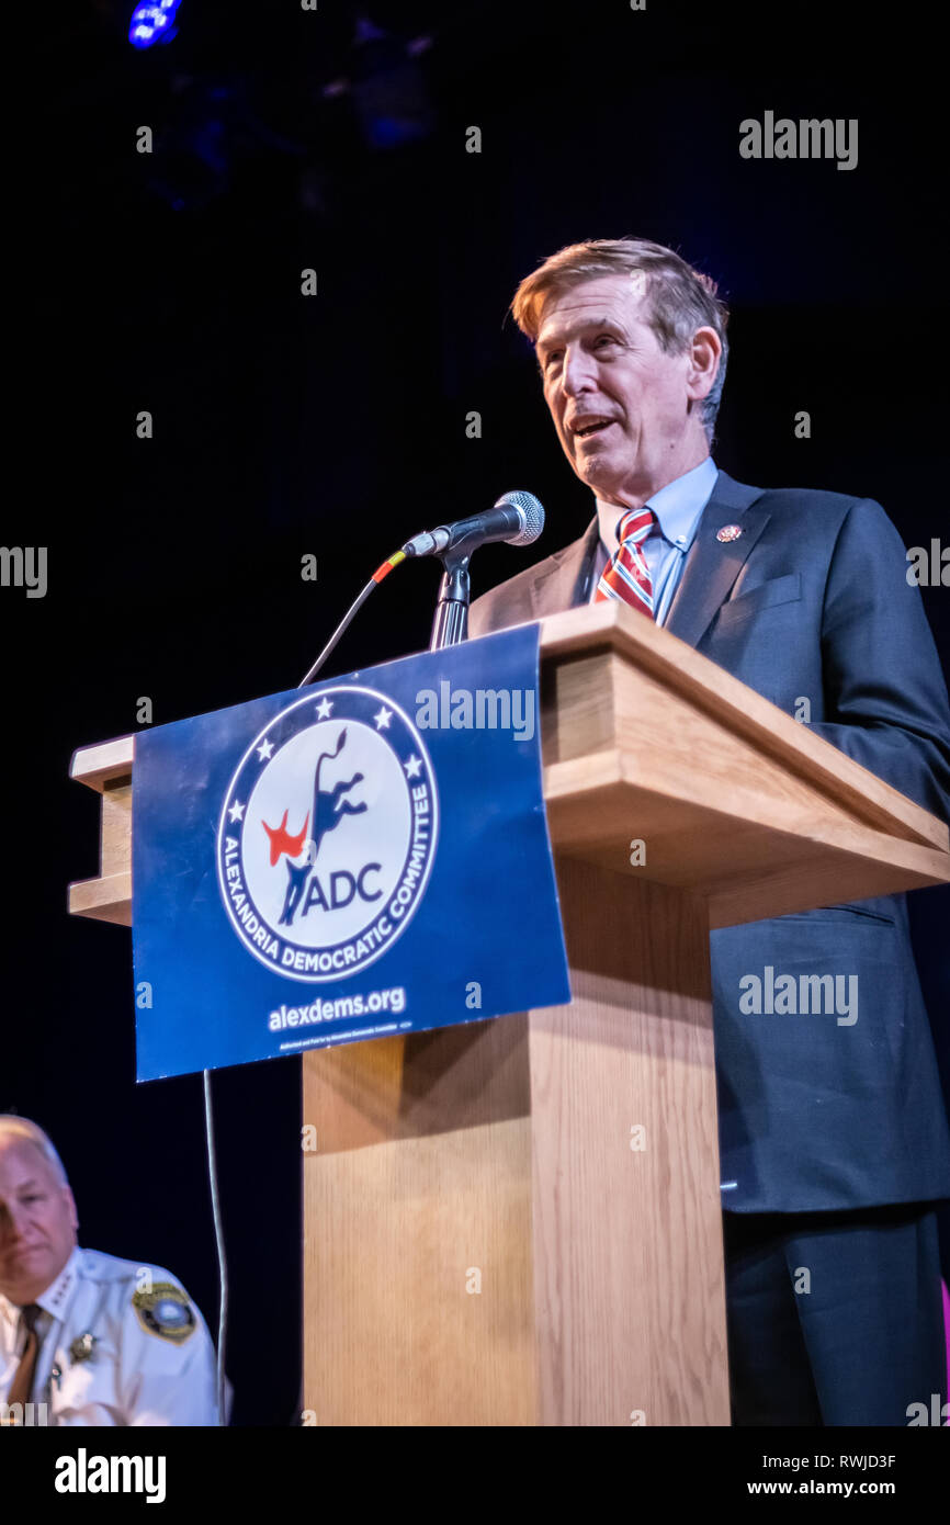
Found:
[[(168, 1270), (76, 1247), (37, 1304), (30, 1400), (47, 1405), (47, 1424), (218, 1423), (215, 1348)], [(0, 1293), (0, 1403), (24, 1344), (20, 1308)]]

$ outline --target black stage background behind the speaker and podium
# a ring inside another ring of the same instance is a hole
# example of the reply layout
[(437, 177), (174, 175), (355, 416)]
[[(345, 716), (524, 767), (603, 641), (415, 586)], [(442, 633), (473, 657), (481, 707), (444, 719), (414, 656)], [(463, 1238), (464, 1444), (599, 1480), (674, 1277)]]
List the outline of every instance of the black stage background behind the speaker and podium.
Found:
[[(537, 555), (581, 532), (590, 494), (505, 320), (518, 279), (579, 238), (654, 238), (720, 282), (721, 467), (875, 497), (906, 544), (945, 543), (942, 53), (918, 12), (828, 0), (185, 0), (146, 52), (130, 12), (43, 12), (8, 191), (6, 317), (27, 345), (2, 540), (49, 547), (49, 592), (0, 589), (0, 1110), (59, 1145), (81, 1243), (171, 1267), (213, 1328), (201, 1081), (134, 1084), (130, 935), (66, 915), (67, 883), (98, 872), (72, 750), (136, 730), (142, 695), (160, 724), (293, 686), (390, 551), (508, 488), (546, 505)], [(354, 46), (360, 14), (384, 35)], [(857, 117), (859, 166), (740, 159), (738, 124), (765, 110)], [(523, 557), (482, 551), (474, 592)], [(424, 648), (436, 586), (435, 564), (401, 569), (325, 676)], [(950, 592), (923, 596), (950, 669)], [(910, 904), (947, 1077), (950, 895)], [(299, 1064), (213, 1090), (235, 1421), (288, 1424)]]

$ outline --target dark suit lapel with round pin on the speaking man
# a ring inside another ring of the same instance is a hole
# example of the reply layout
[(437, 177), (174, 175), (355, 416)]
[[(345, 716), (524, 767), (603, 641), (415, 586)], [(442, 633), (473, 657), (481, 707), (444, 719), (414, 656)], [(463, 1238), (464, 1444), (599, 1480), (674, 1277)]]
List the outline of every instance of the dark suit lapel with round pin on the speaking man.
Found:
[[(720, 471), (715, 480), (665, 621), (665, 628), (691, 647), (697, 647), (706, 634), (769, 523), (769, 511), (756, 502), (764, 491), (761, 486), (733, 482), (726, 471)], [(717, 531), (726, 525), (738, 525), (741, 535), (737, 540), (717, 540)]]

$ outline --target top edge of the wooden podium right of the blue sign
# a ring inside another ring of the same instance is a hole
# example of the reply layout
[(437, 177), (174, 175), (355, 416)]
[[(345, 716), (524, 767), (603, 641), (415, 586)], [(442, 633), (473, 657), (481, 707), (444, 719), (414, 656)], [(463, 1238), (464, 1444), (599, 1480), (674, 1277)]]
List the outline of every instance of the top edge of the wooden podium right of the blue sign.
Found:
[(875, 828), (941, 852), (950, 849), (950, 828), (938, 816), (625, 604), (611, 599), (567, 608), (540, 625), (541, 660), (598, 647), (619, 651)]

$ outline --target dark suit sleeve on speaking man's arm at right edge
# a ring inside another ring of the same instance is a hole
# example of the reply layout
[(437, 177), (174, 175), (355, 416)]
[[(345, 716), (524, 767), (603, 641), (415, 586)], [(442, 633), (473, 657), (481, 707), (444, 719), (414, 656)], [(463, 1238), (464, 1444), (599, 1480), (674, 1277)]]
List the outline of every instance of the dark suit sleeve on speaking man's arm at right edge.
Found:
[(822, 612), (825, 715), (810, 729), (924, 810), (950, 816), (950, 708), (920, 589), (880, 503), (848, 511)]

